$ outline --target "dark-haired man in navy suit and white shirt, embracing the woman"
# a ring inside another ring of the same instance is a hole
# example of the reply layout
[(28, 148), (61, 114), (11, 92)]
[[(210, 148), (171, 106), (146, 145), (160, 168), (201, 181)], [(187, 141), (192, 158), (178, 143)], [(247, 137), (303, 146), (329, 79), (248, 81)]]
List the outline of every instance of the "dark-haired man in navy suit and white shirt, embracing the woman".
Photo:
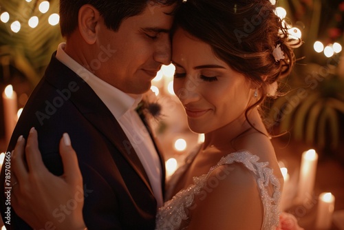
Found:
[[(67, 132), (83, 174), (83, 216), (89, 229), (155, 227), (163, 202), (164, 160), (136, 107), (161, 65), (170, 63), (176, 1), (60, 1), (66, 42), (52, 55), (25, 105), (8, 151), (35, 127), (45, 166), (61, 175), (58, 143)], [(6, 204), (4, 169), (3, 222), (7, 229), (30, 229)]]

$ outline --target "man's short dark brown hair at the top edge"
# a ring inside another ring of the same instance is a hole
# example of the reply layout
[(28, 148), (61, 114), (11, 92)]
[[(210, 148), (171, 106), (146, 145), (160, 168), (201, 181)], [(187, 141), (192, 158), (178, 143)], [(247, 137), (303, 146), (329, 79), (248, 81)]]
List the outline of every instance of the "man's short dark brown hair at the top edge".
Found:
[(69, 36), (78, 27), (78, 12), (89, 4), (104, 18), (107, 28), (117, 31), (124, 19), (141, 14), (147, 6), (171, 6), (178, 0), (60, 0), (60, 27), (62, 36)]

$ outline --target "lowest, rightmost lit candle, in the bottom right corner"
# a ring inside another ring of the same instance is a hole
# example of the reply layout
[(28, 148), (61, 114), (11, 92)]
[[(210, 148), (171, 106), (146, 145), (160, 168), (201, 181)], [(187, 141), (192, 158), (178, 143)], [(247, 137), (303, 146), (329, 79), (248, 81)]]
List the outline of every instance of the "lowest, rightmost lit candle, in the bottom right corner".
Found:
[(318, 202), (318, 212), (316, 215), (316, 229), (331, 228), (333, 211), (334, 196), (330, 192), (320, 194)]

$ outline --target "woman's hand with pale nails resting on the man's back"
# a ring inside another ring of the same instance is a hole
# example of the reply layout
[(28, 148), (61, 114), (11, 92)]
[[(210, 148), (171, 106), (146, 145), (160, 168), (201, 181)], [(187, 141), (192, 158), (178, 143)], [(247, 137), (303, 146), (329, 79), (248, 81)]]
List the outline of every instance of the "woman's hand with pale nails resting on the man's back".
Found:
[(45, 167), (34, 128), (26, 147), (20, 136), (12, 151), (11, 205), (35, 229), (85, 229), (83, 177), (68, 134), (61, 138), (60, 154), (64, 174), (59, 177)]

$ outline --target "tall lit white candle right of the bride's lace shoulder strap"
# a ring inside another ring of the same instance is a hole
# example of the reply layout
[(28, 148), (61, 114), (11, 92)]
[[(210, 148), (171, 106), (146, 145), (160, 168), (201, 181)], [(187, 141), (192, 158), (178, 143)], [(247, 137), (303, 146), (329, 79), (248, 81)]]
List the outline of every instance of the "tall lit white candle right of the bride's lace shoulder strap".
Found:
[(303, 152), (297, 193), (298, 202), (305, 202), (306, 199), (312, 198), (317, 163), (318, 154), (314, 149)]

